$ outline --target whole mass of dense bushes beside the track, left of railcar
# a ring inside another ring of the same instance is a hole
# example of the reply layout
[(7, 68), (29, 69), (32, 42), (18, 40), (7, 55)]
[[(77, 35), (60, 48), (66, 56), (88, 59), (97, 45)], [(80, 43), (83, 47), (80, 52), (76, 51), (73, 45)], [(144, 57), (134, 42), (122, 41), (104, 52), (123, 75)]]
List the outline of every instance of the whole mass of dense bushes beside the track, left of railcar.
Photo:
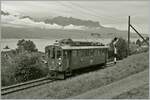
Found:
[(1, 82), (8, 86), (46, 76), (48, 67), (42, 63), (43, 53), (14, 50), (1, 52)]

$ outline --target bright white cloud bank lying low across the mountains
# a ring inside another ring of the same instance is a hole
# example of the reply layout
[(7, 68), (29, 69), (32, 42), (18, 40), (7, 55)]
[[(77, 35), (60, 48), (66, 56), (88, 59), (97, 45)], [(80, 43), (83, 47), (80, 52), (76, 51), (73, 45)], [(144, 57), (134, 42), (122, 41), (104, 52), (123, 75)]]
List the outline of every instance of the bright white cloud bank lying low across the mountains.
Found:
[(75, 26), (75, 25), (68, 25), (68, 26), (61, 26), (58, 24), (46, 24), (45, 22), (35, 22), (30, 18), (22, 18), (18, 15), (1, 15), (1, 22), (2, 25), (11, 26), (11, 27), (35, 27), (35, 28), (42, 28), (42, 29), (64, 29), (64, 30), (83, 30), (84, 26)]

